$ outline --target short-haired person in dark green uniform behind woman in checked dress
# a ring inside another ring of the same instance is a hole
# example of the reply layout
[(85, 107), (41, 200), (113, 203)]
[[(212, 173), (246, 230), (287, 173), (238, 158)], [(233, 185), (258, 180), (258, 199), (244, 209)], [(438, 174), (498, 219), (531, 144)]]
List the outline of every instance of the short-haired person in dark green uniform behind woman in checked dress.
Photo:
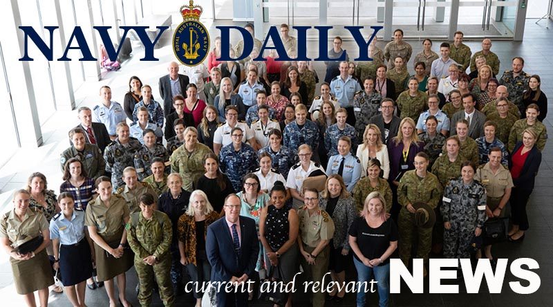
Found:
[(62, 153), (59, 163), (62, 165), (62, 171), (64, 171), (67, 160), (77, 158), (82, 162), (82, 168), (86, 171), (86, 175), (96, 180), (96, 178), (104, 175), (106, 161), (102, 157), (100, 148), (86, 142), (84, 133), (84, 130), (80, 128), (74, 128), (69, 131), (69, 138), (73, 146)]

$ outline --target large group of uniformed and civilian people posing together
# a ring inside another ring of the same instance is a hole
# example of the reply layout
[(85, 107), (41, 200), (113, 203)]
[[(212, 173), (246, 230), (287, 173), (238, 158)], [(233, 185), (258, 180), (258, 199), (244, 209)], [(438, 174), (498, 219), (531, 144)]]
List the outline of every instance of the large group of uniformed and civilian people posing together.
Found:
[[(293, 54), (297, 41), (280, 30)], [(512, 242), (529, 229), (547, 141), (541, 78), (521, 57), (500, 75), (491, 41), (473, 53), (462, 32), (440, 55), (425, 39), (409, 75), (402, 37), (397, 29), (384, 50), (371, 44), (368, 63), (349, 62), (335, 37), (328, 56), (346, 60), (325, 62), (318, 87), (308, 62), (279, 62), (274, 50), (252, 61), (261, 41), (244, 60), (218, 62), (220, 38), (197, 69), (180, 74), (171, 62), (158, 97), (136, 76), (124, 106), (102, 86), (100, 104), (80, 107), (69, 131), (59, 195), (31, 174), (0, 219), (17, 292), (28, 306), (38, 292), (46, 306), (53, 267), (73, 306), (84, 306), (85, 286), (105, 286), (109, 306), (128, 307), (134, 266), (142, 306), (154, 288), (165, 306), (184, 292), (200, 306), (203, 287), (190, 290), (185, 277), (259, 285), (330, 272), (344, 283), (352, 265), (357, 281), (378, 281), (382, 307), (391, 257), (406, 266), (427, 266), (431, 252), (468, 258), (484, 237), (474, 257), (493, 263), (486, 223), (510, 217)], [(230, 47), (239, 55), (243, 41)], [(254, 292), (219, 291), (216, 305), (247, 306)], [(312, 306), (345, 294), (314, 292)]]

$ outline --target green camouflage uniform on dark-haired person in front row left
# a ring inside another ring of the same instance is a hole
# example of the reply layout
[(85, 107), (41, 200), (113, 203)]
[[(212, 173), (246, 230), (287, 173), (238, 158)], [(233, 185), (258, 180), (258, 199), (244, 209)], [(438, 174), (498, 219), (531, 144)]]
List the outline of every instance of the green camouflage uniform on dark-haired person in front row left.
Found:
[[(147, 220), (142, 212), (131, 214), (126, 224), (126, 238), (134, 252), (134, 266), (138, 275), (140, 306), (150, 306), (153, 292), (153, 277), (159, 287), (160, 298), (164, 306), (173, 306), (174, 292), (169, 271), (171, 270), (171, 220), (167, 214), (155, 210), (151, 219)], [(153, 266), (144, 263), (142, 259), (153, 256), (156, 263)]]

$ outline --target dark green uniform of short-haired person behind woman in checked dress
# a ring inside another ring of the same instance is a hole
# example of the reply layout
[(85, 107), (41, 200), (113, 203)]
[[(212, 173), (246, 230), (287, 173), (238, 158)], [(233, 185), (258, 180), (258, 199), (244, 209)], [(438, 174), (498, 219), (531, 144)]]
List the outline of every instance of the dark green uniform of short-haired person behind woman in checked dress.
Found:
[(106, 171), (106, 161), (102, 157), (102, 151), (96, 145), (86, 143), (83, 151), (78, 151), (75, 146), (71, 146), (62, 152), (59, 163), (64, 171), (65, 163), (71, 158), (77, 158), (82, 162), (82, 168), (86, 171), (88, 177), (96, 178), (103, 176)]

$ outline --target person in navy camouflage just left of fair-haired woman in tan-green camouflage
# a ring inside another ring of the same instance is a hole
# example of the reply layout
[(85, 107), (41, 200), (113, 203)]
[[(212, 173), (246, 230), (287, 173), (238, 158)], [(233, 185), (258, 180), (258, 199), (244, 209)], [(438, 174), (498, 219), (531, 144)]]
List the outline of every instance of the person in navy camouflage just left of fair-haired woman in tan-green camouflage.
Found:
[(134, 167), (138, 174), (138, 180), (142, 181), (151, 175), (151, 161), (153, 158), (162, 158), (165, 162), (165, 172), (169, 174), (169, 154), (163, 145), (156, 144), (156, 136), (153, 131), (144, 131), (144, 145), (134, 155)]

